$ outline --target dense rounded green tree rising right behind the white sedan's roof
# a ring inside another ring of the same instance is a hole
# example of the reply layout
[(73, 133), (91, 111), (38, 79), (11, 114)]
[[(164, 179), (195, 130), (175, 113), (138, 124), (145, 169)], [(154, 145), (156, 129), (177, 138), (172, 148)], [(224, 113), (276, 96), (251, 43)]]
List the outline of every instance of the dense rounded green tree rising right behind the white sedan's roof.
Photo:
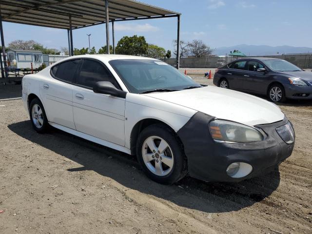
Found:
[(145, 56), (147, 54), (147, 48), (148, 43), (144, 36), (124, 36), (117, 43), (116, 53), (121, 55)]

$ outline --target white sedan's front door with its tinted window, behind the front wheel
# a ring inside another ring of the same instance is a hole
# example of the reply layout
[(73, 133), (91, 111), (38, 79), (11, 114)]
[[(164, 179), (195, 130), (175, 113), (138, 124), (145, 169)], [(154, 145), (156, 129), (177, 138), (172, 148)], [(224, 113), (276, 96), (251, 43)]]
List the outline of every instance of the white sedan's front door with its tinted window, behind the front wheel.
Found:
[(79, 132), (124, 146), (125, 98), (97, 94), (98, 81), (110, 81), (120, 89), (108, 68), (96, 59), (81, 59), (73, 89), (73, 113)]

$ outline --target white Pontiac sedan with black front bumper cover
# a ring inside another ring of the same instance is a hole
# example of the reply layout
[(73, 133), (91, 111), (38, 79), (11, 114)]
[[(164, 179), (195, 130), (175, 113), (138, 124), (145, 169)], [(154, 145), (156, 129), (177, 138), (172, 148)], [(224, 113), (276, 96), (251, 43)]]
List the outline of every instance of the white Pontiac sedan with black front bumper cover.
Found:
[(60, 60), (22, 80), (38, 133), (53, 126), (137, 155), (151, 179), (240, 181), (292, 154), (292, 123), (273, 103), (195, 83), (167, 63), (122, 55)]

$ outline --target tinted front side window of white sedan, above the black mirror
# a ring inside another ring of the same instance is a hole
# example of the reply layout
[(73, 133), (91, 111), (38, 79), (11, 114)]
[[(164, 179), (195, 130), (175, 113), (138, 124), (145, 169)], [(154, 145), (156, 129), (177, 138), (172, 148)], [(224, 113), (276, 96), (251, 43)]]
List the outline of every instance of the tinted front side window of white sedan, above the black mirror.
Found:
[(102, 63), (92, 59), (83, 59), (76, 83), (93, 88), (98, 81), (110, 81), (116, 88), (119, 87), (115, 78)]

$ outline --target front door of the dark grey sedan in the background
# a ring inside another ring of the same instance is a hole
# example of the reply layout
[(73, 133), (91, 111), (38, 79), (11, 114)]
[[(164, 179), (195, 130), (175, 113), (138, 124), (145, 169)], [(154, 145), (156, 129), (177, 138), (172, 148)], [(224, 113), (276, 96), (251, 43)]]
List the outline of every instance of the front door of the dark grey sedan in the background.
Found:
[(263, 72), (257, 72), (258, 68), (265, 68), (264, 65), (255, 60), (249, 60), (247, 62), (248, 77), (242, 83), (242, 87), (246, 91), (254, 93), (265, 94), (267, 91), (267, 79), (268, 74)]

